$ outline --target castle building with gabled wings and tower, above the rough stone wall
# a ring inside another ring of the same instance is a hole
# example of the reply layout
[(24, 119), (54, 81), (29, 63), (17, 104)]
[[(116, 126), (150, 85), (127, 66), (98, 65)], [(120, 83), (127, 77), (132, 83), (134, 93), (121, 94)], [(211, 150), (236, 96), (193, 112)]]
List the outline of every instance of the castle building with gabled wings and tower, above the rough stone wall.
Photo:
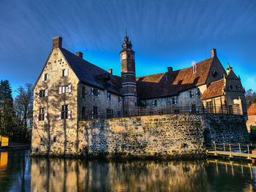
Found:
[[(50, 151), (51, 143), (69, 149), (78, 145), (78, 124), (84, 119), (180, 113), (246, 114), (244, 88), (228, 64), (227, 72), (211, 50), (211, 58), (186, 69), (136, 77), (135, 52), (124, 37), (120, 52), (121, 77), (113, 75), (62, 47), (53, 38), (53, 49), (34, 85), (32, 151)], [(157, 112), (157, 114), (156, 114)], [(66, 141), (69, 140), (67, 143)], [(43, 148), (43, 149), (42, 149)]]

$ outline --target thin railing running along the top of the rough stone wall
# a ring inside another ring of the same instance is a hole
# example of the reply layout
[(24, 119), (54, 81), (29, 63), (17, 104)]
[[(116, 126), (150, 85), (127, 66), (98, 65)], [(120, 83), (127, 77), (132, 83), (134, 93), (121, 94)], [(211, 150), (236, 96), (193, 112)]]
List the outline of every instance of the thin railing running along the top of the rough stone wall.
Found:
[(203, 106), (187, 106), (187, 107), (136, 107), (136, 110), (129, 110), (127, 112), (108, 110), (105, 112), (89, 112), (81, 115), (80, 120), (89, 119), (107, 119), (107, 118), (124, 118), (148, 115), (168, 115), (168, 114), (230, 114), (242, 115), (242, 110), (232, 109), (228, 110), (226, 107), (211, 107), (205, 108)]

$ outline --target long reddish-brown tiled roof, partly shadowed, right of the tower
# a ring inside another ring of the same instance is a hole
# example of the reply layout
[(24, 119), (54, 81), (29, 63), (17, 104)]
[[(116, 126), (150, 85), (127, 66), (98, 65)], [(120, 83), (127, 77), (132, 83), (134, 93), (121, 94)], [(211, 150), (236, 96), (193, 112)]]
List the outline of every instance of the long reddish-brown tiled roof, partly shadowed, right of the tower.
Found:
[(207, 58), (193, 67), (173, 72), (137, 77), (137, 94), (140, 99), (154, 99), (177, 95), (181, 91), (206, 83), (214, 58)]

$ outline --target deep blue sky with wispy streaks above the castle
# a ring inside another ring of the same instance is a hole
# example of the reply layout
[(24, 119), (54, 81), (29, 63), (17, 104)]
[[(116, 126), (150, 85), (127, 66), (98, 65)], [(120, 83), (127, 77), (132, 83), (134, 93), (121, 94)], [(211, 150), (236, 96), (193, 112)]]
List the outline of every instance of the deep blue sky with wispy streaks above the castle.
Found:
[(135, 50), (136, 75), (182, 69), (210, 57), (256, 90), (256, 1), (26, 1), (1, 0), (0, 79), (12, 89), (34, 84), (52, 48), (63, 47), (120, 75), (125, 29)]

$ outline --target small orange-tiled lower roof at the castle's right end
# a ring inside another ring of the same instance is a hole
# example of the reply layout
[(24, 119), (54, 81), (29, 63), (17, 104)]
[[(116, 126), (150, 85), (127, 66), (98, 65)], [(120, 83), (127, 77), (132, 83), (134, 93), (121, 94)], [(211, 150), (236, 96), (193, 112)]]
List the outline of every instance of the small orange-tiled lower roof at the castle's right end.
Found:
[(223, 95), (223, 86), (225, 85), (224, 80), (218, 80), (216, 82), (211, 82), (211, 84), (208, 86), (205, 92), (203, 92), (203, 95), (201, 96), (201, 100), (203, 99), (209, 99), (216, 96), (222, 96)]

